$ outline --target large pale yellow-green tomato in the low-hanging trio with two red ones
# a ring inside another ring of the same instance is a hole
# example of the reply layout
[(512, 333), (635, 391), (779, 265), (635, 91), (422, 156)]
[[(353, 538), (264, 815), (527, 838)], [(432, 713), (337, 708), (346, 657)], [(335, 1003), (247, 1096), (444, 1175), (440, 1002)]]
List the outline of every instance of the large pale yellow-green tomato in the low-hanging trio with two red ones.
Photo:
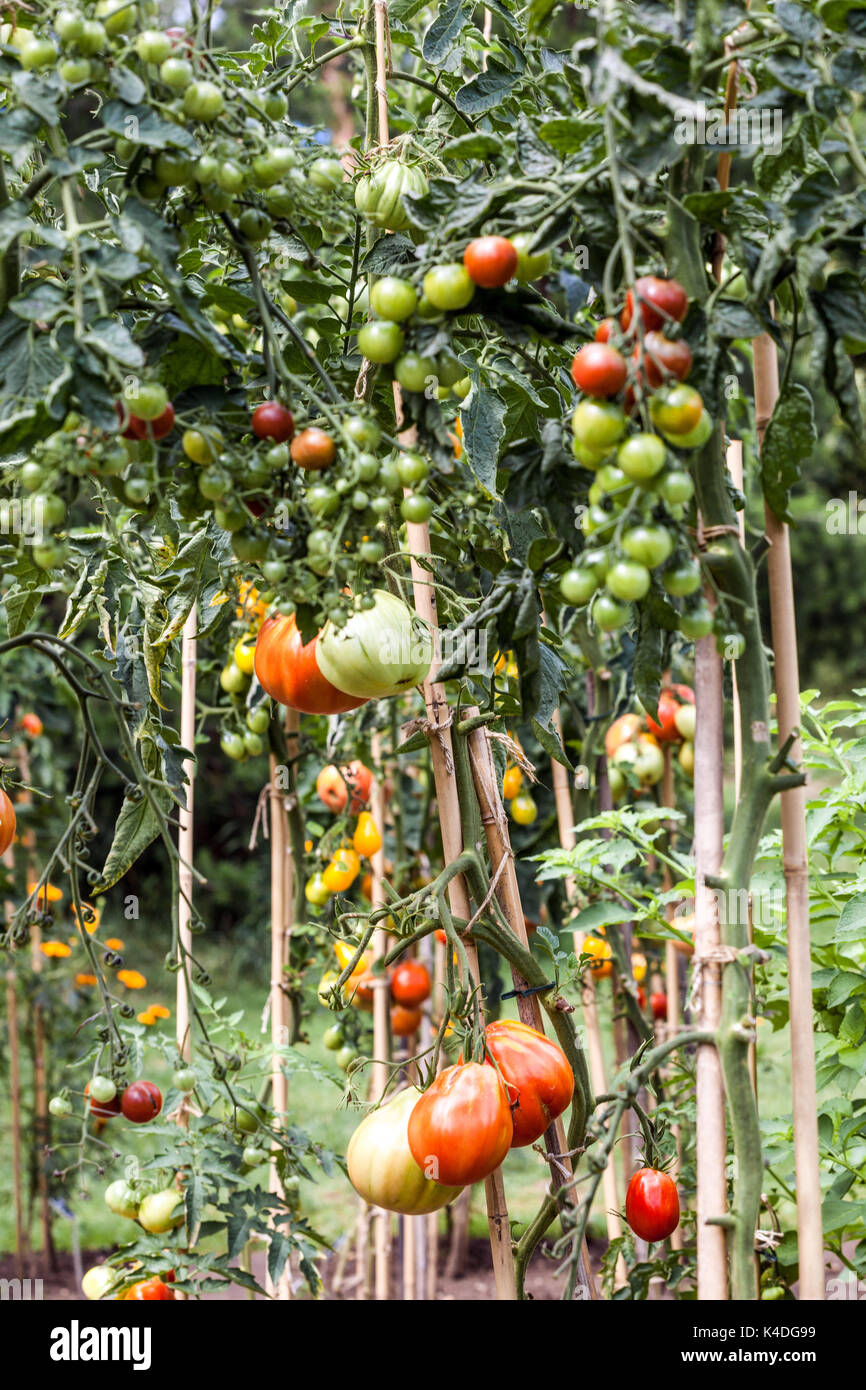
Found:
[(409, 1148), (409, 1116), (421, 1093), (414, 1086), (373, 1111), (349, 1140), (349, 1182), (366, 1202), (386, 1212), (420, 1216), (448, 1207), (459, 1187), (445, 1187), (425, 1177)]

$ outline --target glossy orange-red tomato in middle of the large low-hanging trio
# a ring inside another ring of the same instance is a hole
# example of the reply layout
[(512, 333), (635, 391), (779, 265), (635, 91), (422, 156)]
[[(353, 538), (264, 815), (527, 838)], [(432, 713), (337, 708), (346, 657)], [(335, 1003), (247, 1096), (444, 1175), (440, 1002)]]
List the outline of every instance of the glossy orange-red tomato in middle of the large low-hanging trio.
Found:
[(459, 1062), (439, 1072), (409, 1116), (411, 1156), (427, 1177), (468, 1187), (499, 1168), (514, 1125), (492, 1066)]

